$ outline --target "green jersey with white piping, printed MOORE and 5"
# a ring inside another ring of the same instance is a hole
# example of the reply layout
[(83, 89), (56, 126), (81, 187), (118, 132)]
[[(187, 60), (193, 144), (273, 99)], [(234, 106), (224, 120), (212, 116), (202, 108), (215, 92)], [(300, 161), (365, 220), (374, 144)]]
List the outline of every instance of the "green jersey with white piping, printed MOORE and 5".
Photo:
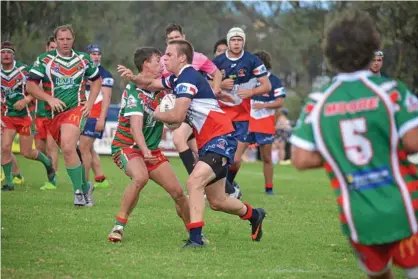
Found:
[(389, 243), (417, 231), (418, 178), (400, 142), (412, 95), (398, 81), (360, 73), (311, 94), (305, 122), (327, 161), (344, 232), (362, 244)]

